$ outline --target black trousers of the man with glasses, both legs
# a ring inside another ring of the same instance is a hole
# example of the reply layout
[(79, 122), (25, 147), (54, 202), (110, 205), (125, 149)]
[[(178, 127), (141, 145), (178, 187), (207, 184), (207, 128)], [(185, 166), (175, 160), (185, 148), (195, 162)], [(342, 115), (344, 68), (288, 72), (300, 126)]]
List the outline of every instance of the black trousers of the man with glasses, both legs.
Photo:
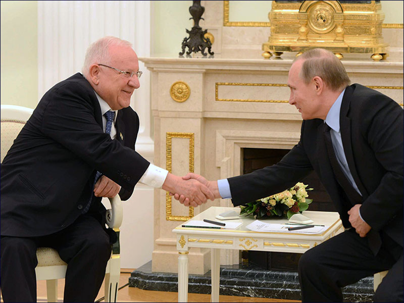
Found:
[(1, 237), (1, 288), (5, 302), (36, 302), (36, 248), (55, 248), (67, 266), (64, 301), (93, 302), (111, 257), (110, 237), (90, 215), (41, 237)]

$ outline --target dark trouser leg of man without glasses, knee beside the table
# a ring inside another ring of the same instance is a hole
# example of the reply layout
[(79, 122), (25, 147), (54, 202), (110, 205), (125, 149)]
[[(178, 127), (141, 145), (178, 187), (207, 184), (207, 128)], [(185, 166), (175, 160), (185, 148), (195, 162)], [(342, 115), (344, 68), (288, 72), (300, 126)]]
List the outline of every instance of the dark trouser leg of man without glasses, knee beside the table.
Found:
[(395, 263), (384, 252), (375, 257), (367, 238), (361, 238), (353, 229), (313, 247), (299, 260), (302, 301), (342, 302), (341, 287), (386, 270)]

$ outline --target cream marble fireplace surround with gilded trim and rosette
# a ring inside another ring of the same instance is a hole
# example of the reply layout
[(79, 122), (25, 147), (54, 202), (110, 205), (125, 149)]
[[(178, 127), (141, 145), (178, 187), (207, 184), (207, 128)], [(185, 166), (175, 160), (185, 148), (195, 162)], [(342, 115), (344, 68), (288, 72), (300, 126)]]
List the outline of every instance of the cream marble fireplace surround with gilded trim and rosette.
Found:
[[(297, 143), (301, 116), (288, 104), (288, 70), (294, 57), (261, 59), (261, 52), (236, 58), (139, 58), (151, 72), (155, 164), (176, 175), (189, 171), (217, 180), (242, 173), (241, 150), (286, 148)], [(402, 58), (373, 62), (367, 56), (342, 60), (352, 83), (389, 95), (402, 106)], [(176, 99), (176, 100), (175, 100)], [(228, 199), (189, 209), (155, 191), (153, 271), (178, 271), (172, 229), (211, 206), (232, 206)], [(210, 250), (189, 252), (189, 272), (210, 269)], [(221, 264), (238, 264), (238, 251), (222, 252)]]

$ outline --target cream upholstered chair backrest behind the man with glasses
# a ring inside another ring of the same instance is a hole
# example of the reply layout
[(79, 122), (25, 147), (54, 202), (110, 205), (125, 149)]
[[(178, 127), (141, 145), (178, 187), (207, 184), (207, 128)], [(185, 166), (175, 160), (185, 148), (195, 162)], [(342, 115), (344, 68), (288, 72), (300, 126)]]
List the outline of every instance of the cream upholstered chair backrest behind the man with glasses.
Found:
[(2, 105), (1, 106), (1, 157), (0, 162), (3, 162), (6, 157), (7, 151), (13, 145), (14, 139), (20, 133), (24, 124), (31, 117), (33, 110), (16, 105)]

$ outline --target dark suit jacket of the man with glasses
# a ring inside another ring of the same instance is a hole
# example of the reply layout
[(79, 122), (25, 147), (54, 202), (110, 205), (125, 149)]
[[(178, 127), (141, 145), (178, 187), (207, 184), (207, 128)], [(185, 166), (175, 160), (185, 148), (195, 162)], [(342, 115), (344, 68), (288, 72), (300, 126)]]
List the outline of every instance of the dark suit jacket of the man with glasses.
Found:
[[(128, 199), (149, 162), (134, 151), (139, 118), (131, 108), (118, 111), (116, 128), (116, 140), (104, 133), (98, 100), (80, 73), (49, 89), (1, 165), (1, 234), (41, 236), (69, 226), (87, 205), (97, 170)], [(90, 212), (103, 213), (100, 200)]]

